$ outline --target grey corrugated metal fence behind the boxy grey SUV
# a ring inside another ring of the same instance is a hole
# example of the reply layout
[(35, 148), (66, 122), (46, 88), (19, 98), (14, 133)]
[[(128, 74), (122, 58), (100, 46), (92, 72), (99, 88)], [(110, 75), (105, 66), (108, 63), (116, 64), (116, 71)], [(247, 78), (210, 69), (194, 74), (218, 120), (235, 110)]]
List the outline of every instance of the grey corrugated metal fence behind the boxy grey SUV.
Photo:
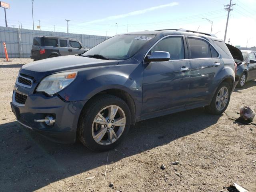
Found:
[(29, 58), (31, 55), (33, 38), (36, 36), (73, 38), (82, 42), (86, 48), (92, 48), (93, 46), (106, 40), (105, 36), (0, 27), (0, 58), (5, 58), (3, 42), (6, 43), (9, 58)]

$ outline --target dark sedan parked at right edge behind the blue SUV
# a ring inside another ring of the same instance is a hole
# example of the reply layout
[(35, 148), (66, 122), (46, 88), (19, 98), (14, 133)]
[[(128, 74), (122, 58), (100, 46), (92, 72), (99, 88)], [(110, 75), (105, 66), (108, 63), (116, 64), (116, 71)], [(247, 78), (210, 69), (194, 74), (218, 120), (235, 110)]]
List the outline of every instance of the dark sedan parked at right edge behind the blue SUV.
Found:
[(237, 73), (236, 77), (239, 78), (237, 84), (242, 88), (247, 81), (256, 79), (256, 51), (241, 50), (243, 60), (236, 60)]

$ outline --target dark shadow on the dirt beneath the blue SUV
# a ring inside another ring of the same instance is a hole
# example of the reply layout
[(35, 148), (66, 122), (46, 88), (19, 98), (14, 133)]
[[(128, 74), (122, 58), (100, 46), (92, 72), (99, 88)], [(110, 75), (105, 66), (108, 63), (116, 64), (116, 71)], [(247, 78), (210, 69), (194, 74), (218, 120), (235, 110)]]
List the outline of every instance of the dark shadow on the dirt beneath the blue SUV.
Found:
[[(219, 118), (197, 108), (138, 122), (116, 148), (118, 151), (109, 152), (108, 162), (112, 164), (199, 132), (216, 124)], [(34, 191), (103, 166), (108, 155), (92, 152), (80, 142), (50, 142), (16, 122), (0, 126), (0, 151), (0, 191)]]

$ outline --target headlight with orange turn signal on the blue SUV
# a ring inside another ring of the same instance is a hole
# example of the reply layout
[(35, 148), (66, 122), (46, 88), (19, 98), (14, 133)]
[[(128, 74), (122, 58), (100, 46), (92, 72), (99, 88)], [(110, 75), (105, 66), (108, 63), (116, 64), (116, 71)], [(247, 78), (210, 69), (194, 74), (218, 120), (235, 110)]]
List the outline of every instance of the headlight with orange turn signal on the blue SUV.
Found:
[(46, 92), (53, 95), (68, 86), (75, 80), (77, 72), (63, 72), (46, 76), (36, 89), (37, 92)]

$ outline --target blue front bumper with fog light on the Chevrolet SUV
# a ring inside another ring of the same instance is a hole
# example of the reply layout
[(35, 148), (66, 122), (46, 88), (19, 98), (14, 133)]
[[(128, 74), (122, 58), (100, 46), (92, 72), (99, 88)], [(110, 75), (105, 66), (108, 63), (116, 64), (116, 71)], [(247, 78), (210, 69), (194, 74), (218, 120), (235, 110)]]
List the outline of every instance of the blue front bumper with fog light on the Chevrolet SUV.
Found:
[[(15, 94), (15, 91), (14, 93)], [(41, 93), (27, 96), (24, 106), (11, 102), (12, 112), (18, 123), (30, 128), (52, 141), (59, 143), (74, 143), (80, 112), (86, 100), (66, 102), (59, 96), (48, 97)], [(48, 126), (45, 122), (34, 120), (53, 116), (55, 123)]]

